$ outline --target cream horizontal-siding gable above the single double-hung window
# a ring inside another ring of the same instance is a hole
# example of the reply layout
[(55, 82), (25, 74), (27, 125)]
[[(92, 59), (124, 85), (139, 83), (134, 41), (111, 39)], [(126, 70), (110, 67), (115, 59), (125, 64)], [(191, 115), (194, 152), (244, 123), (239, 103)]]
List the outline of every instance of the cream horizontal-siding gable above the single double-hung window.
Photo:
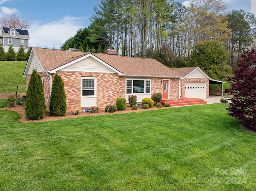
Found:
[(98, 63), (94, 59), (88, 57), (77, 63), (74, 63), (66, 68), (60, 69), (60, 71), (81, 71), (81, 72), (102, 72), (102, 73), (114, 73), (104, 65)]

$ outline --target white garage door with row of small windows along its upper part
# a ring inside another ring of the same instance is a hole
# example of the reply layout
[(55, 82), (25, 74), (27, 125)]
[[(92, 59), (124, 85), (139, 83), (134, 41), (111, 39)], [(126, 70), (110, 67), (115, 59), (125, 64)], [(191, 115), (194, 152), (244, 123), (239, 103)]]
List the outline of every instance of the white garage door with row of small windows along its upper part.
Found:
[(185, 97), (206, 98), (206, 82), (186, 82)]

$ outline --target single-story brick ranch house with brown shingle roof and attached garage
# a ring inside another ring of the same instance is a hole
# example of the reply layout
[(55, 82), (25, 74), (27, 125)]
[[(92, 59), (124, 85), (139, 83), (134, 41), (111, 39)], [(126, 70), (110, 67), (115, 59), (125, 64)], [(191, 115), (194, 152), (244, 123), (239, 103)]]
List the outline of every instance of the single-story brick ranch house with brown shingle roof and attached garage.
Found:
[(164, 100), (209, 97), (210, 79), (198, 67), (170, 69), (155, 59), (33, 47), (23, 76), (26, 87), (32, 70), (42, 77), (46, 107), (56, 72), (64, 82), (67, 112), (114, 105), (116, 98), (136, 95), (137, 102), (161, 93)]

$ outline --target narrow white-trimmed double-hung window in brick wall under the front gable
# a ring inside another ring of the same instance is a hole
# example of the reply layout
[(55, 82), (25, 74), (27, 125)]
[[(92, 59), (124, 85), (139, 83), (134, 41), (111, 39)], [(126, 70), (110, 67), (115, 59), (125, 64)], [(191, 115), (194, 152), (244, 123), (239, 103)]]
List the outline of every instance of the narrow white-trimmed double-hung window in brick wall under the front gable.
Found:
[(82, 77), (82, 96), (96, 96), (96, 78)]

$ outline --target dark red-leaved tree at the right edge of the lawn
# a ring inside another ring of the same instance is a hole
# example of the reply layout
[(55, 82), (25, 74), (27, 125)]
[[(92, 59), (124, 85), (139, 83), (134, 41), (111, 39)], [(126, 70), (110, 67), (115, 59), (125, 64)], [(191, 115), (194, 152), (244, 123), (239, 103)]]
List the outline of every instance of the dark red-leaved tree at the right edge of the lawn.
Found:
[(228, 115), (256, 131), (256, 49), (244, 52), (238, 67), (234, 77), (228, 77), (233, 95)]

